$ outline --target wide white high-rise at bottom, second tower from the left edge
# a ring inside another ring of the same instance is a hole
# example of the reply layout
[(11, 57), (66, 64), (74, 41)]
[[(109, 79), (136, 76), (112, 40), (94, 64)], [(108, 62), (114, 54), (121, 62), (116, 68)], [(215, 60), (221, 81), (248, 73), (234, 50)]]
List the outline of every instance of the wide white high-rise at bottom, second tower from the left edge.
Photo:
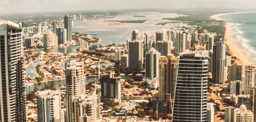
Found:
[(60, 122), (60, 90), (37, 91), (37, 122)]

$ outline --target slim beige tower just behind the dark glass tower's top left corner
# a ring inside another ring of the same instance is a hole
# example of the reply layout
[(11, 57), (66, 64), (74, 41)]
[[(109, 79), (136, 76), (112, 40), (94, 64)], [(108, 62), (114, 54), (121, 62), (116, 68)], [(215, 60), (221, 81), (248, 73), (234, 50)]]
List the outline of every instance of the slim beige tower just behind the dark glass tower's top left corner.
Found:
[(175, 46), (175, 54), (184, 52), (186, 49), (186, 33), (182, 31), (177, 33), (173, 44)]

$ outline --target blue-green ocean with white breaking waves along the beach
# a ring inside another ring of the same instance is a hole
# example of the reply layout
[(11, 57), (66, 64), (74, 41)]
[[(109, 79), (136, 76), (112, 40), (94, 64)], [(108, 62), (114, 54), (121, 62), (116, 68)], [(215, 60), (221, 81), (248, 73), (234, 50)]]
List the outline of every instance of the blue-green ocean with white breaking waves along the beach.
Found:
[(230, 29), (235, 43), (256, 63), (256, 13), (223, 15), (221, 19), (232, 22)]

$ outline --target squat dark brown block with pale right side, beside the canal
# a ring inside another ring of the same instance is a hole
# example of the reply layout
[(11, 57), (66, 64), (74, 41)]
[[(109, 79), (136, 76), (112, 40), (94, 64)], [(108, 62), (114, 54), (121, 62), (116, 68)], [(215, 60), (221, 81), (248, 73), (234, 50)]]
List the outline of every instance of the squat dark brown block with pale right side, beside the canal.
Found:
[(114, 77), (114, 73), (101, 78), (101, 101), (121, 102), (120, 78)]

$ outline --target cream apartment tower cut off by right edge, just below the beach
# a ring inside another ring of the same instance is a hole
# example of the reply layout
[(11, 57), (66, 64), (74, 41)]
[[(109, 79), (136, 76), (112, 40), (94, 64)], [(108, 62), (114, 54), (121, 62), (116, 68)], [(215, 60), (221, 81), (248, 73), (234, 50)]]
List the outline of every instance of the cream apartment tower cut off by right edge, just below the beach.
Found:
[(250, 95), (250, 89), (255, 86), (256, 65), (245, 65), (245, 95)]

